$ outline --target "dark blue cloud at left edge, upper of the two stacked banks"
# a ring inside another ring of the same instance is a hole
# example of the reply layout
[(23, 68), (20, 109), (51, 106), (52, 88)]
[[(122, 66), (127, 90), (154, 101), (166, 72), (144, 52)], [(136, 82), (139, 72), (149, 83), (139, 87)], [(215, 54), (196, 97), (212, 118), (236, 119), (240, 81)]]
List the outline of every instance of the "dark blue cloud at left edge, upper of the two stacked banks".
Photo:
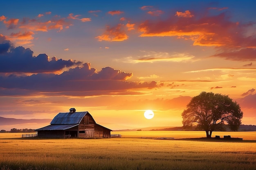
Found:
[(33, 51), (29, 48), (12, 47), (10, 43), (0, 44), (0, 72), (22, 72), (22, 73), (43, 73), (56, 72), (63, 68), (80, 65), (81, 62), (71, 60), (56, 59), (46, 54), (33, 56)]

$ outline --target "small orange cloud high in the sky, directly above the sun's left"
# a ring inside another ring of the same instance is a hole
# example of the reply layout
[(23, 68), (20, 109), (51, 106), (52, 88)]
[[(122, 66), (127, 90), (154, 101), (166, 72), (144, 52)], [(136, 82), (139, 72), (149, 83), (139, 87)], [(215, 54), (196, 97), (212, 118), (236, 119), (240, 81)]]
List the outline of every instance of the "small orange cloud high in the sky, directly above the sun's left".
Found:
[(98, 41), (124, 41), (128, 39), (128, 35), (126, 35), (123, 27), (124, 25), (122, 24), (118, 24), (111, 28), (107, 26), (106, 32), (95, 38), (98, 39)]

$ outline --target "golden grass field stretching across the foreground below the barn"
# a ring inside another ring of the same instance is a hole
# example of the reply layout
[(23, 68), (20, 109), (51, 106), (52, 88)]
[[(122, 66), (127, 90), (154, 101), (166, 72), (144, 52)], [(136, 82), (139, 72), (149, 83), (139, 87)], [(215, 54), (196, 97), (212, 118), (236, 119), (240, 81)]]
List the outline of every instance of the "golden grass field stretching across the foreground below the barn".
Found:
[[(151, 133), (154, 134), (155, 132)], [(13, 135), (21, 136), (20, 133)], [(253, 170), (256, 167), (254, 141), (198, 142), (180, 139), (141, 139), (125, 137), (126, 135), (111, 139), (26, 139), (11, 138), (11, 136), (7, 138), (4, 134), (0, 134), (0, 168), (1, 170)], [(249, 133), (249, 138), (250, 135), (255, 137), (256, 133)]]

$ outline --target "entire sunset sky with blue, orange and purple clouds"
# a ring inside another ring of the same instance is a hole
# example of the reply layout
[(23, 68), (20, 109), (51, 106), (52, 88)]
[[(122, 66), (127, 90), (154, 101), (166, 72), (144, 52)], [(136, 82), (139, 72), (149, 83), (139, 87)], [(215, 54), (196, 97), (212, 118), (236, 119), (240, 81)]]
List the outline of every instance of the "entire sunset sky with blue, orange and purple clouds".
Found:
[[(182, 111), (205, 91), (228, 95), (244, 113), (242, 124), (255, 125), (255, 6), (251, 0), (1, 2), (0, 116), (53, 119), (74, 107), (112, 130), (182, 126)], [(155, 116), (144, 118), (146, 110)]]

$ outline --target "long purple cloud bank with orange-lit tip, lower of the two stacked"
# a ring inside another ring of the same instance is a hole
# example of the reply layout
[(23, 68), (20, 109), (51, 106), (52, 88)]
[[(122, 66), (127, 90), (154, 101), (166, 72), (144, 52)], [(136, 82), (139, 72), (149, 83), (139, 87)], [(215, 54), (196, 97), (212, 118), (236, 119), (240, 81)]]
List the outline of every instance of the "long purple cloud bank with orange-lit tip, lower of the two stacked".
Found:
[[(99, 72), (85, 63), (82, 67), (72, 68), (62, 74), (33, 74), (31, 76), (0, 76), (0, 94), (47, 94), (52, 96), (90, 96), (103, 94), (128, 94), (128, 90), (158, 87), (155, 81), (150, 83), (128, 82), (132, 73), (121, 72), (110, 67)], [(19, 90), (18, 90), (19, 89)], [(3, 92), (4, 91), (4, 92)], [(3, 92), (3, 93), (2, 93)]]

